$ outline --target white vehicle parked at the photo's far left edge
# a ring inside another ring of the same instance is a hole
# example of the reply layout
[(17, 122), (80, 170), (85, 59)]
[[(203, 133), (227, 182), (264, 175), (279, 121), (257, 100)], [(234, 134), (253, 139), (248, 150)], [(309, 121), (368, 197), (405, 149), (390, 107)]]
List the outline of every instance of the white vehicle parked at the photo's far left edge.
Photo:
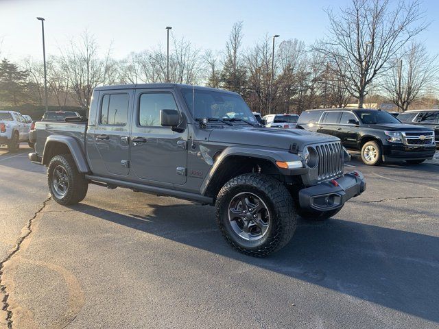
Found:
[(21, 142), (29, 142), (29, 127), (19, 112), (0, 111), (0, 145), (8, 145), (9, 151), (16, 151)]

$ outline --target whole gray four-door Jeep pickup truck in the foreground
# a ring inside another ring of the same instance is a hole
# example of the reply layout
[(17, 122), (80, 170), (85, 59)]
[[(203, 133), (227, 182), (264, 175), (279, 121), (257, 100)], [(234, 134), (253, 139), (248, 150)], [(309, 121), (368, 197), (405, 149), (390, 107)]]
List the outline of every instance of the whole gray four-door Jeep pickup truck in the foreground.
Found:
[(226, 241), (251, 256), (285, 246), (298, 216), (327, 219), (366, 188), (344, 173), (339, 138), (261, 127), (241, 96), (213, 88), (98, 87), (88, 120), (40, 121), (31, 138), (59, 204), (97, 184), (215, 205)]

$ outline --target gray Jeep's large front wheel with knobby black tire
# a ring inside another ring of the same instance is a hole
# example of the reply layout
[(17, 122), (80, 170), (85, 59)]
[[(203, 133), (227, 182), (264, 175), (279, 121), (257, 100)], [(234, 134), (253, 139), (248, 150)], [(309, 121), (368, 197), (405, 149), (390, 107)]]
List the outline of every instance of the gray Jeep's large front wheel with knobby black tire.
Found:
[(296, 230), (296, 206), (287, 188), (268, 175), (246, 173), (218, 193), (216, 219), (226, 241), (263, 257), (284, 247)]

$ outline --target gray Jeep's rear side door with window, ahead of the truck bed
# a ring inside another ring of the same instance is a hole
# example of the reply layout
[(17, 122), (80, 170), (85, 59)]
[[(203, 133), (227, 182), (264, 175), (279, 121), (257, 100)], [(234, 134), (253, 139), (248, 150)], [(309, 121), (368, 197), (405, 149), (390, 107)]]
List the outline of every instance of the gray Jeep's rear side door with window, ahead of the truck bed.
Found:
[[(114, 90), (99, 95), (96, 126), (87, 132), (93, 135), (93, 143), (100, 156), (93, 164), (93, 173), (96, 175), (125, 176), (130, 172), (128, 136), (132, 95), (132, 90)], [(99, 162), (103, 165), (99, 165)]]

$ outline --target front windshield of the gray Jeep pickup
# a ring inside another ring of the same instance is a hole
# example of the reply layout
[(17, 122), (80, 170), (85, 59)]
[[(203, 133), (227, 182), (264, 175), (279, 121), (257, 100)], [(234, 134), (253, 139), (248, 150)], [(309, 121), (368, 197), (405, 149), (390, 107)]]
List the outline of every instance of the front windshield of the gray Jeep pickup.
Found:
[[(239, 95), (202, 89), (194, 91), (192, 88), (183, 88), (181, 93), (189, 110), (194, 112), (194, 119), (241, 119), (257, 123), (254, 114)], [(193, 99), (195, 99), (194, 105)]]

